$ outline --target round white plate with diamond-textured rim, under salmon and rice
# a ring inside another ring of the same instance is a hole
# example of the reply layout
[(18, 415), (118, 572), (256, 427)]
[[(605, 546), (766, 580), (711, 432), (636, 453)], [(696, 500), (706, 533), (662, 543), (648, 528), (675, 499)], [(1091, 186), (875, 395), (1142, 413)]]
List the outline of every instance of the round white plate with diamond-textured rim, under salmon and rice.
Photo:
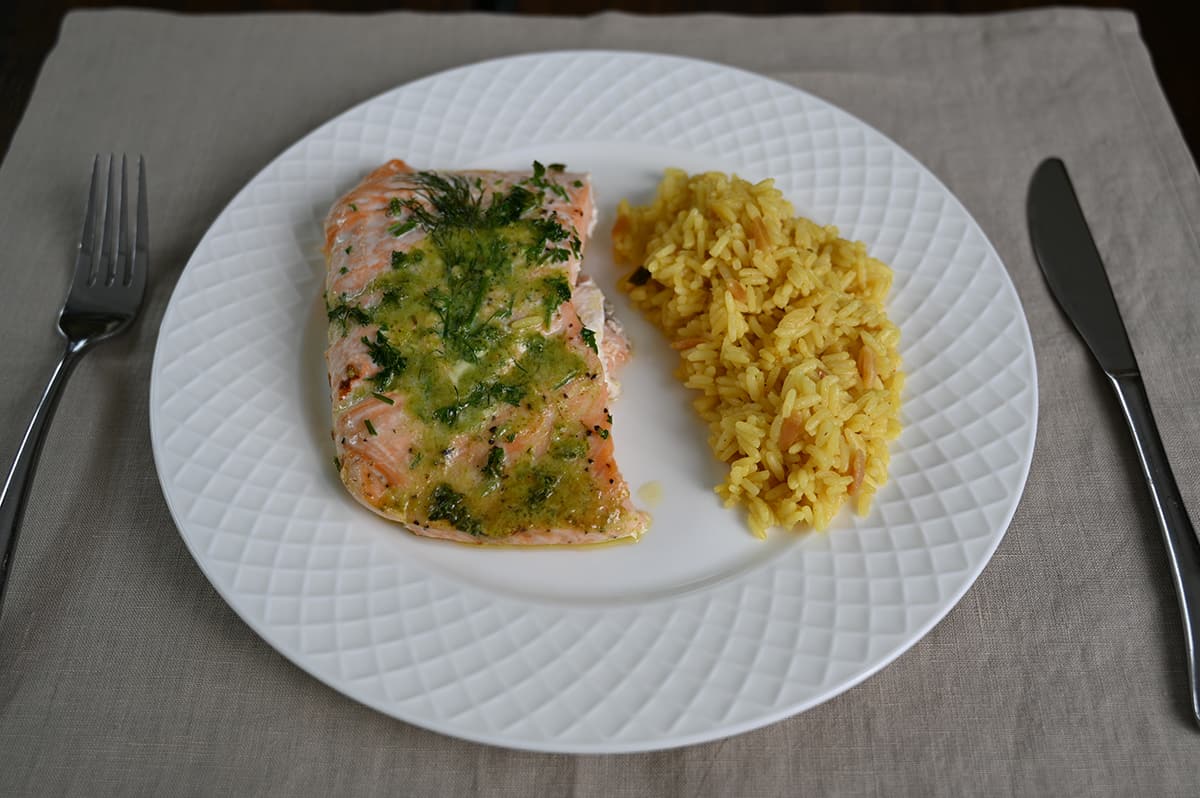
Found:
[[(414, 538), (334, 472), (322, 220), (389, 157), (590, 170), (586, 264), (637, 355), (617, 457), (664, 500), (636, 546), (481, 551)], [(676, 354), (613, 289), (607, 227), (665, 167), (774, 176), (798, 212), (896, 272), (908, 373), (892, 479), (828, 534), (750, 536)], [(163, 492), (204, 574), (271, 646), (406, 721), (511, 748), (635, 751), (755, 728), (892, 661), (991, 557), (1028, 473), (1033, 349), (996, 252), (887, 138), (781, 83), (661, 55), (578, 52), (454, 70), (371, 100), (268, 166), (200, 241), (150, 388)]]

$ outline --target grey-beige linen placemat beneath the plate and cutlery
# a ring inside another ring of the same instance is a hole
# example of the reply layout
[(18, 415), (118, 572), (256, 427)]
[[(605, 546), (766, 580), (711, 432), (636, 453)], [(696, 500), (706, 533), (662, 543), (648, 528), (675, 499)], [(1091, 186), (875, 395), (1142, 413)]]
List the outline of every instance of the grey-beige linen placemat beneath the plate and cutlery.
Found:
[[(317, 125), (398, 84), (564, 48), (703, 58), (877, 127), (1000, 252), (1032, 330), (1037, 446), (976, 586), (862, 685), (726, 740), (559, 756), (446, 738), (275, 653), (186, 552), (148, 384), (208, 226)], [(1192, 796), (1182, 630), (1117, 406), (1033, 260), (1025, 192), (1067, 161), (1200, 518), (1200, 179), (1124, 12), (587, 18), (71, 13), (0, 166), (0, 461), (56, 356), (92, 154), (143, 152), (152, 276), (134, 330), (72, 378), (0, 617), (0, 794)]]

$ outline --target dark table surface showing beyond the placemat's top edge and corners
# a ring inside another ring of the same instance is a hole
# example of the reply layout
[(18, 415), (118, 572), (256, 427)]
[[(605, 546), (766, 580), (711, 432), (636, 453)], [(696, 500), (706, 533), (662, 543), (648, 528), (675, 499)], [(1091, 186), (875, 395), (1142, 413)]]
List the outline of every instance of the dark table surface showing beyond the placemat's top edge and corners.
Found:
[[(54, 44), (62, 16), (71, 8), (107, 6), (163, 8), (186, 13), (233, 13), (246, 11), (350, 11), (394, 8), (422, 11), (494, 11), (502, 13), (586, 14), (605, 8), (643, 13), (685, 13), (719, 11), (743, 14), (763, 13), (991, 13), (1044, 6), (1044, 2), (779, 2), (772, 0), (127, 0), (102, 2), (79, 0), (0, 0), (0, 156), (8, 151), (42, 61)], [(1142, 37), (1150, 48), (1159, 82), (1166, 92), (1183, 137), (1196, 160), (1200, 152), (1200, 54), (1194, 42), (1189, 14), (1177, 4), (1103, 2), (1056, 4), (1129, 8), (1138, 14)]]

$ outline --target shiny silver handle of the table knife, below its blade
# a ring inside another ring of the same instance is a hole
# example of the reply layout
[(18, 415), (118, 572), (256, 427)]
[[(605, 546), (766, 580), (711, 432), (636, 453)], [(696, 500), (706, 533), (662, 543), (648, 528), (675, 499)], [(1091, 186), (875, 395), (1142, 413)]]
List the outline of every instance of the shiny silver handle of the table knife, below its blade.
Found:
[(1180, 598), (1180, 616), (1188, 655), (1188, 683), (1192, 686), (1192, 714), (1200, 724), (1200, 676), (1196, 673), (1196, 644), (1200, 643), (1200, 541), (1183, 506), (1180, 486), (1163, 449), (1163, 439), (1150, 412), (1150, 398), (1141, 376), (1108, 374), (1121, 402), (1121, 410), (1133, 433), (1138, 460), (1150, 486), (1154, 516), (1163, 529), (1171, 578)]

